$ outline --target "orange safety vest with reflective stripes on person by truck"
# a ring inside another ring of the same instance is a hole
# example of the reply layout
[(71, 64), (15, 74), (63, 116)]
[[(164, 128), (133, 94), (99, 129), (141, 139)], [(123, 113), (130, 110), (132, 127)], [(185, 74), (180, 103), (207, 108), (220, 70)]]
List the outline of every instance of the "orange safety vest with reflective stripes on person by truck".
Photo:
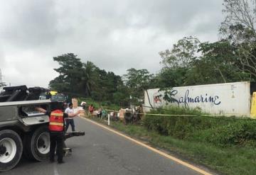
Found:
[(50, 113), (49, 130), (57, 132), (64, 130), (63, 111), (55, 110)]

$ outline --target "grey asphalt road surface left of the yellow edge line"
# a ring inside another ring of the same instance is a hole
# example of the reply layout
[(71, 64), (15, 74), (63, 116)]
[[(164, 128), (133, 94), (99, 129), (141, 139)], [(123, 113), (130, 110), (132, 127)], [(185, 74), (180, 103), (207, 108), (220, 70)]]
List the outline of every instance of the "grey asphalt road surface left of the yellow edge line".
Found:
[(65, 164), (29, 162), (21, 159), (16, 168), (1, 174), (198, 174), (84, 119), (75, 118), (75, 125), (76, 130), (85, 131), (85, 136), (73, 137), (66, 141), (73, 153), (64, 157)]

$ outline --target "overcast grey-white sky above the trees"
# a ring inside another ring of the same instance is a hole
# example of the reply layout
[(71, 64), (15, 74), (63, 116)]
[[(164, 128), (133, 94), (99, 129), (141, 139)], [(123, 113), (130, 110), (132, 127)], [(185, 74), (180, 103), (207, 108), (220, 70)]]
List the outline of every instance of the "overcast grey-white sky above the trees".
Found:
[(47, 87), (53, 57), (73, 52), (115, 74), (161, 69), (159, 51), (193, 35), (218, 40), (223, 0), (8, 0), (0, 6), (7, 84)]

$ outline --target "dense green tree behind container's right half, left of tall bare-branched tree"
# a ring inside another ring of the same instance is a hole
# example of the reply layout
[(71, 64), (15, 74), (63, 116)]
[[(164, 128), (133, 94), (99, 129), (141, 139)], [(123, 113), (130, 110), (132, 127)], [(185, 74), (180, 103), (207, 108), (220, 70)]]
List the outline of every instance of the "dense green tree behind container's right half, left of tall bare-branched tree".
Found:
[(248, 74), (240, 72), (237, 58), (233, 54), (234, 48), (227, 40), (215, 43), (201, 43), (201, 56), (193, 60), (189, 69), (186, 84), (214, 84), (232, 81), (248, 80)]

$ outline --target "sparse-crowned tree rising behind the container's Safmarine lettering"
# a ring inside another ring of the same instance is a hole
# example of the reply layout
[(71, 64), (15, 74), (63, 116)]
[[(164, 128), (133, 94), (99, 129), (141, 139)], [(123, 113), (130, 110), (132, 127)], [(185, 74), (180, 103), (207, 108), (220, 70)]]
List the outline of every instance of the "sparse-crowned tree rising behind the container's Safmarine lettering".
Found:
[(170, 50), (159, 52), (163, 68), (156, 75), (159, 88), (185, 86), (186, 74), (191, 69), (193, 60), (197, 59), (200, 41), (192, 36), (178, 40)]

